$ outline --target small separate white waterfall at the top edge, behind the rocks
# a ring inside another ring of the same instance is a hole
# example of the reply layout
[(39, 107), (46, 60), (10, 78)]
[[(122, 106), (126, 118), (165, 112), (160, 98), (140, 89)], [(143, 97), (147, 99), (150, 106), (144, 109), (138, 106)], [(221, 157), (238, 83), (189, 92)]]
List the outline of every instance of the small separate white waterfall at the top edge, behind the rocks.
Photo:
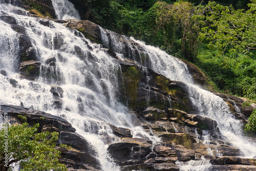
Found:
[(57, 19), (80, 19), (74, 4), (68, 0), (51, 0)]

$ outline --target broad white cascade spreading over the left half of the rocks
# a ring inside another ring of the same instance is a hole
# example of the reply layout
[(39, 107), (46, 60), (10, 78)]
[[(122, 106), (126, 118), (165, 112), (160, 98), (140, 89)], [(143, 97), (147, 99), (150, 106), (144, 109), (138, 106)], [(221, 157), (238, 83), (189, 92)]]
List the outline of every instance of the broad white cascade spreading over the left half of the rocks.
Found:
[[(40, 76), (34, 82), (19, 79), (16, 71), (19, 63), (18, 33), (13, 31), (10, 24), (0, 20), (0, 69), (4, 69), (8, 77), (0, 74), (0, 104), (22, 104), (25, 108), (46, 111), (67, 119), (77, 133), (92, 144), (102, 170), (120, 170), (112, 162), (106, 149), (108, 144), (101, 136), (108, 133), (109, 137), (118, 140), (108, 124), (129, 128), (134, 137), (160, 140), (134, 124), (136, 117), (118, 102), (117, 72), (120, 66), (112, 57), (88, 39), (75, 36), (74, 32), (77, 31), (70, 31), (54, 22), (49, 22), (49, 27), (44, 26), (36, 18), (15, 14), (14, 8), (23, 10), (0, 4), (0, 15), (12, 16), (15, 23), (25, 29), (35, 48), (36, 60), (41, 62)], [(56, 66), (46, 63), (50, 56), (56, 58)], [(16, 86), (13, 87), (8, 79), (15, 79)], [(63, 89), (63, 110), (55, 109), (52, 105), (52, 84)]]

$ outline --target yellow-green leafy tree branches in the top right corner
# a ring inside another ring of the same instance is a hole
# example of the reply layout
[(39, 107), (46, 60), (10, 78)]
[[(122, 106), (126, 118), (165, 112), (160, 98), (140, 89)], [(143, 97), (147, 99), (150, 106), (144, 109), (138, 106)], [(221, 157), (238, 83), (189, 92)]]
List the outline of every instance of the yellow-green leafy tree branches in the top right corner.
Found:
[(232, 6), (222, 6), (209, 2), (198, 8), (198, 18), (204, 20), (200, 39), (209, 41), (224, 56), (225, 52), (248, 53), (256, 48), (256, 1), (251, 0), (247, 11), (234, 10)]

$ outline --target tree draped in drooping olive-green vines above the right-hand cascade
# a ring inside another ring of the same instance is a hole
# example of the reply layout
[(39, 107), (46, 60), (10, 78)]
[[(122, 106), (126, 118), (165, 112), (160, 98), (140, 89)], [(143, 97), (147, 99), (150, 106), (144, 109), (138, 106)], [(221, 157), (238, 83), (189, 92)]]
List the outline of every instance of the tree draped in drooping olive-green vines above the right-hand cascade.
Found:
[(169, 50), (166, 50), (171, 52), (175, 47), (184, 58), (194, 61), (199, 27), (193, 17), (193, 5), (184, 1), (177, 1), (174, 4), (158, 2), (158, 5), (156, 31), (164, 27), (165, 32), (172, 33), (169, 37), (173, 42), (167, 43)]

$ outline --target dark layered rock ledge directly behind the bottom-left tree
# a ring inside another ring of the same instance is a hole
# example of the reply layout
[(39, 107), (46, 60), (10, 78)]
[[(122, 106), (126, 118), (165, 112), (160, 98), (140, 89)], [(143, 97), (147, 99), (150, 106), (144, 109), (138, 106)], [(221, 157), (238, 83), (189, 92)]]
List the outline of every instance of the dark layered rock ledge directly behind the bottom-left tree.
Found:
[(39, 132), (58, 132), (59, 140), (56, 142), (56, 145), (59, 145), (61, 142), (62, 144), (72, 146), (69, 151), (63, 147), (56, 147), (61, 152), (60, 163), (65, 163), (67, 167), (73, 169), (100, 169), (99, 162), (94, 157), (94, 149), (83, 137), (75, 133), (76, 130), (65, 119), (42, 111), (35, 111), (15, 105), (0, 105), (0, 115), (4, 115), (4, 113), (8, 114), (8, 121), (11, 124), (21, 124), (22, 121), (20, 121), (17, 115), (22, 115), (27, 118), (27, 122), (31, 126), (39, 123)]

